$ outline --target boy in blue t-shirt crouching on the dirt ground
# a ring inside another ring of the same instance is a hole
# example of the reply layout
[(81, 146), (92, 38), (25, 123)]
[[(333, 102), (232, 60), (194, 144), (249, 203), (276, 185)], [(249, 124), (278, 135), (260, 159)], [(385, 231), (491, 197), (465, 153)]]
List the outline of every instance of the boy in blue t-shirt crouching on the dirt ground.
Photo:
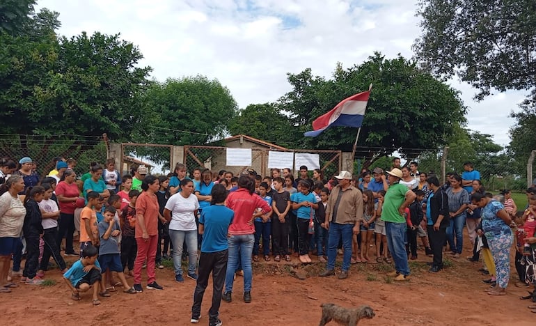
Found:
[(82, 258), (72, 264), (72, 267), (63, 274), (65, 283), (72, 290), (72, 300), (80, 300), (80, 293), (86, 292), (93, 287), (93, 305), (97, 306), (100, 304), (97, 295), (102, 277), (100, 275), (99, 261), (97, 261), (98, 252), (97, 248), (88, 244), (81, 252)]

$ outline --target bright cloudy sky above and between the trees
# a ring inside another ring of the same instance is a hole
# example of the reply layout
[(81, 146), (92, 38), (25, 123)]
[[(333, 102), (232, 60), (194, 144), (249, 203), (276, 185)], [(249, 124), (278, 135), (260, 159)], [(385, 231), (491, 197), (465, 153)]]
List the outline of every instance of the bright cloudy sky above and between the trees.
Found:
[[(374, 51), (410, 58), (420, 35), (416, 0), (38, 0), (60, 13), (59, 33), (120, 33), (138, 45), (164, 81), (205, 75), (230, 89), (239, 107), (273, 102), (290, 91), (286, 73), (311, 68), (330, 77), (337, 62), (362, 63)], [(476, 91), (457, 79), (469, 107), (468, 127), (510, 142), (509, 128), (524, 95), (497, 93), (474, 102)], [(328, 111), (331, 108), (326, 108)]]

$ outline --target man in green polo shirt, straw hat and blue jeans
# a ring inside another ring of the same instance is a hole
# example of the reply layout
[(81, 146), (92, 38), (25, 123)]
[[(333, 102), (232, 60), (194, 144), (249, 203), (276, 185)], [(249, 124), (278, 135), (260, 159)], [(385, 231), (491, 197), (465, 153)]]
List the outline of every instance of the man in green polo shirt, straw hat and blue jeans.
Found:
[(402, 171), (392, 169), (389, 173), (389, 189), (381, 208), (381, 220), (385, 222), (387, 247), (393, 254), (396, 271), (391, 273), (395, 281), (409, 278), (409, 265), (406, 253), (406, 208), (416, 199), (416, 194), (400, 184)]

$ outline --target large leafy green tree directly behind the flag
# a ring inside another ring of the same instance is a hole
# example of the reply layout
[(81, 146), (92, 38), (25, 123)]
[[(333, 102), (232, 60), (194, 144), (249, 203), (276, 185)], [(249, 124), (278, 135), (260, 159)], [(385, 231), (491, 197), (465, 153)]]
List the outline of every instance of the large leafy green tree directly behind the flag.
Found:
[[(413, 148), (413, 155), (448, 142), (455, 125), (464, 123), (466, 108), (458, 92), (420, 70), (416, 63), (398, 56), (385, 59), (379, 53), (361, 65), (333, 72), (333, 79), (313, 77), (310, 70), (289, 75), (293, 90), (281, 98), (279, 108), (290, 112), (294, 130), (311, 130), (315, 118), (340, 100), (373, 84), (358, 146), (372, 148), (364, 166), (395, 150)], [(433, 136), (432, 136), (433, 135)], [(332, 127), (314, 138), (302, 137), (304, 146), (351, 151), (356, 130)]]

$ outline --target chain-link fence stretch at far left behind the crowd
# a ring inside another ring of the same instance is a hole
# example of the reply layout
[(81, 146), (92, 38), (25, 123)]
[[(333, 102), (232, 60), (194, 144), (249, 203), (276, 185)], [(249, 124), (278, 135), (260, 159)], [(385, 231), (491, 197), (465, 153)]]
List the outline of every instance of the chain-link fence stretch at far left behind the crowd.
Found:
[(104, 163), (107, 146), (102, 137), (52, 135), (49, 137), (26, 134), (0, 134), (0, 157), (18, 163), (22, 157), (31, 157), (40, 176), (54, 169), (54, 157), (75, 160), (78, 175), (89, 170), (90, 162)]

